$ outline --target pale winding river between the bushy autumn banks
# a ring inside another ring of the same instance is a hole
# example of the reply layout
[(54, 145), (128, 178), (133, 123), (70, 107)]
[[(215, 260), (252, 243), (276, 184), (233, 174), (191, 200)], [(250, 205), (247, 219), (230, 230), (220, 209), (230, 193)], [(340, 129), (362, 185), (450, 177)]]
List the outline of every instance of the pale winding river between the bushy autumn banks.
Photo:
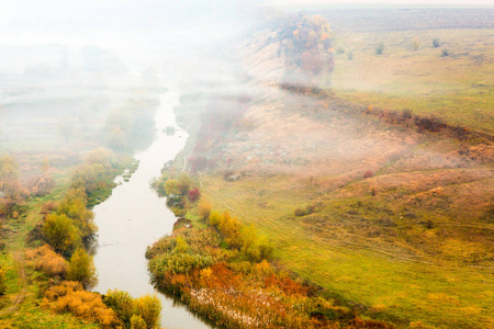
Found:
[(179, 94), (169, 91), (161, 95), (156, 114), (157, 138), (145, 151), (135, 155), (141, 161), (128, 182), (113, 190), (112, 195), (93, 208), (98, 225), (98, 247), (94, 265), (98, 271), (96, 292), (104, 294), (110, 288), (128, 292), (133, 297), (158, 294), (161, 299), (161, 327), (211, 328), (184, 305), (173, 302), (149, 283), (144, 257), (146, 247), (171, 234), (176, 217), (167, 208), (165, 198), (159, 198), (149, 189), (153, 178), (160, 174), (164, 163), (173, 159), (183, 148), (187, 134), (178, 129), (172, 136), (164, 134), (166, 126), (176, 126), (172, 109)]

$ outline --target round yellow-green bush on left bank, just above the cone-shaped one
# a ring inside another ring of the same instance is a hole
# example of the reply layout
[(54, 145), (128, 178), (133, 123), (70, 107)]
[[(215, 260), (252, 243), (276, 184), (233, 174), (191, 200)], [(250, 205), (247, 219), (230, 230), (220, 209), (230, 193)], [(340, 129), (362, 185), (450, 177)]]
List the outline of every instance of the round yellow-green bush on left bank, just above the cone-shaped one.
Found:
[(80, 246), (79, 230), (65, 214), (49, 214), (42, 227), (43, 237), (55, 251), (69, 256)]

